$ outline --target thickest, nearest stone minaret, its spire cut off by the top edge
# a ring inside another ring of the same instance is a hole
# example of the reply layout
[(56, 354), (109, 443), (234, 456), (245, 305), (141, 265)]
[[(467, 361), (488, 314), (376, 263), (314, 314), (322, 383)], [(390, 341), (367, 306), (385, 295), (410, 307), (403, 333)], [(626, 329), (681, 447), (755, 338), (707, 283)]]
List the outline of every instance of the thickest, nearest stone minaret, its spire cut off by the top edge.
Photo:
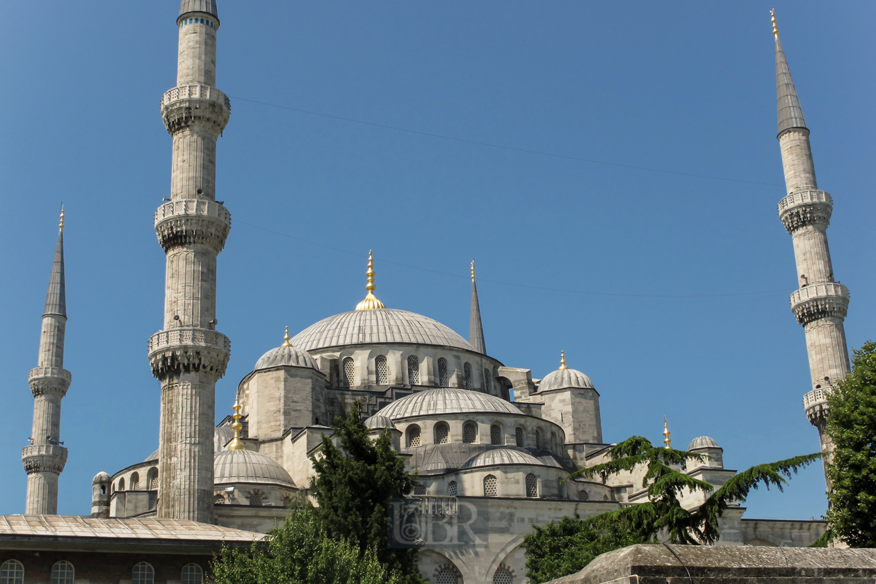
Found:
[(167, 255), (164, 329), (149, 340), (161, 381), (157, 517), (210, 523), (213, 514), (215, 383), (230, 355), (215, 330), (216, 256), (231, 215), (215, 201), (216, 140), (230, 102), (215, 86), (215, 0), (182, 0), (177, 87), (161, 100), (173, 136), (170, 202), (155, 214)]

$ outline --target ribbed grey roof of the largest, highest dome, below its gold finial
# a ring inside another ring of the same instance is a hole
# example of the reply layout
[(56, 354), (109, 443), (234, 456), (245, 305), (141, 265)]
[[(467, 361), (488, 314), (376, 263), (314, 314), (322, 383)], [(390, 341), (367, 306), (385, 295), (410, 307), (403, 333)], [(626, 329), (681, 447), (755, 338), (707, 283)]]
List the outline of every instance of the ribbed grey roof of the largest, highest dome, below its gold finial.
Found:
[(296, 334), (295, 347), (306, 351), (347, 345), (403, 343), (475, 351), (468, 341), (437, 320), (395, 308), (336, 314)]

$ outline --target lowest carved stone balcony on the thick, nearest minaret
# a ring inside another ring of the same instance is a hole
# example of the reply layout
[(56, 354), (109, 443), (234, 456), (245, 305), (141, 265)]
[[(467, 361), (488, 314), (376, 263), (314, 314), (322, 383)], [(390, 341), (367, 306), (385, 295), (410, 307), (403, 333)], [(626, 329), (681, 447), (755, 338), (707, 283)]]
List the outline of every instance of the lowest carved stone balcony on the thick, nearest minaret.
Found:
[(191, 371), (204, 371), (218, 379), (225, 375), (230, 355), (229, 338), (206, 328), (173, 328), (149, 339), (152, 375), (162, 381)]

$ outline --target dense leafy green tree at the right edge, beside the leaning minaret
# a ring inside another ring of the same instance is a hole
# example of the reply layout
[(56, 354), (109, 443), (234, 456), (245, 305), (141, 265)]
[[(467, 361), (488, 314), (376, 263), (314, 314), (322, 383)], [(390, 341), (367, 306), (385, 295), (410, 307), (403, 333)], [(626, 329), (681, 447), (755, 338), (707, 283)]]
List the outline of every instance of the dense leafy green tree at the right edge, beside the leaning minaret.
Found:
[(851, 547), (876, 547), (876, 343), (853, 351), (851, 373), (830, 392), (828, 405), (830, 532)]

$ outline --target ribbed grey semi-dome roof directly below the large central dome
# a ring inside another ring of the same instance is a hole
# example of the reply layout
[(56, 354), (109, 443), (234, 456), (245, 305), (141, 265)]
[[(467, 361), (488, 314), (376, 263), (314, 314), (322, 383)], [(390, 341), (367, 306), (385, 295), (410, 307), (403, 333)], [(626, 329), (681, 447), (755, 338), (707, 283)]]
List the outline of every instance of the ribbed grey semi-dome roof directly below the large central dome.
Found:
[(456, 387), (435, 387), (419, 391), (392, 402), (378, 413), (386, 418), (397, 420), (470, 412), (523, 415), (523, 412), (502, 398), (480, 391), (460, 390)]

